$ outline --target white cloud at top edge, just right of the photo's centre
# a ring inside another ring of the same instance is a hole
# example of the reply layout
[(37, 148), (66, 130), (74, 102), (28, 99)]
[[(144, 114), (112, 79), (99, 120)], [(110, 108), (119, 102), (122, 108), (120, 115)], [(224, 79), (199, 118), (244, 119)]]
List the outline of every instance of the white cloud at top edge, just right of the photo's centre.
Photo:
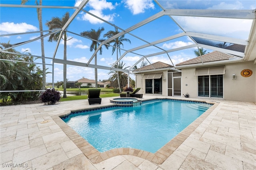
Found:
[(144, 13), (146, 9), (155, 8), (152, 0), (126, 0), (124, 4), (134, 15)]

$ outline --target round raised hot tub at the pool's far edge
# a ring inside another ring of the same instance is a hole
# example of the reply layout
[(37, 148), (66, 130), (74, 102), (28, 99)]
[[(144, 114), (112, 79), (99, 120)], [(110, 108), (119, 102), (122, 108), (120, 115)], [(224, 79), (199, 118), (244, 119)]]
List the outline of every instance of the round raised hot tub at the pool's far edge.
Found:
[(110, 99), (110, 103), (115, 103), (119, 106), (140, 106), (141, 99), (135, 97), (119, 97)]

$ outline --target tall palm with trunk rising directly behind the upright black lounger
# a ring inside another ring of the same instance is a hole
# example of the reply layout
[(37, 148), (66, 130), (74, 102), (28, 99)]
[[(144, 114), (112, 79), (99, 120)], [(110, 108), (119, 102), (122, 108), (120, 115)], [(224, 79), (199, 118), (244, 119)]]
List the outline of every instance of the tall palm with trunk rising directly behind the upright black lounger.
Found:
[[(100, 42), (103, 42), (105, 39), (100, 38), (100, 34), (104, 31), (105, 29), (103, 27), (98, 28), (97, 31), (94, 29), (88, 30), (81, 32), (80, 34), (86, 38), (90, 38), (92, 40), (92, 43), (90, 45), (90, 51), (96, 51), (97, 47), (100, 45)], [(104, 44), (106, 49), (108, 49), (108, 45)], [(100, 55), (102, 55), (102, 47), (99, 49)], [(97, 53), (94, 56), (94, 64), (97, 65)], [(98, 71), (97, 68), (94, 68), (94, 74), (95, 74), (95, 87), (98, 88)]]

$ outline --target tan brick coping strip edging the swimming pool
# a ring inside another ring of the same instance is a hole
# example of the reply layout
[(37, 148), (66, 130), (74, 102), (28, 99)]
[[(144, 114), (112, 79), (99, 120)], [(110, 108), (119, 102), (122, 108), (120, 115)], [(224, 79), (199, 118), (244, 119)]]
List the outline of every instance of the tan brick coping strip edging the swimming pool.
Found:
[[(156, 100), (149, 99), (149, 100)], [(168, 99), (168, 98), (161, 98)], [(142, 101), (149, 101), (148, 99)], [(84, 111), (84, 110), (92, 110), (92, 109), (102, 109), (105, 107), (114, 107), (116, 104), (110, 103), (108, 106), (99, 106), (86, 109), (79, 109), (74, 111), (68, 111), (64, 114), (52, 116), (52, 119), (57, 123), (57, 125), (63, 130), (63, 132), (76, 144), (76, 146), (83, 152), (83, 154), (94, 164), (112, 158), (118, 155), (132, 155), (137, 156), (143, 159), (146, 159), (155, 164), (162, 164), (183, 142), (190, 136), (192, 132), (210, 115), (210, 113), (218, 106), (218, 102), (215, 101), (204, 101), (204, 100), (190, 100), (183, 99), (178, 101), (193, 101), (193, 102), (205, 102), (213, 104), (207, 111), (205, 111), (200, 117), (198, 117), (195, 121), (193, 121), (188, 127), (182, 130), (179, 134), (177, 134), (174, 138), (172, 138), (169, 142), (167, 142), (164, 146), (162, 146), (155, 153), (148, 152), (145, 150), (140, 150), (136, 148), (115, 148), (112, 150), (108, 150), (106, 152), (99, 152), (94, 146), (92, 146), (87, 140), (82, 138), (75, 130), (69, 127), (61, 118), (70, 115), (72, 112)]]

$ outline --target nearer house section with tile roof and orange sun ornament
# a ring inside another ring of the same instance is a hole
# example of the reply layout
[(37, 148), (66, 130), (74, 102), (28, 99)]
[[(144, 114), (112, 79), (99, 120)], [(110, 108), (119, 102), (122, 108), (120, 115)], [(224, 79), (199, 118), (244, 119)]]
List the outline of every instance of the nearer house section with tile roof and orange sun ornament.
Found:
[(256, 67), (220, 51), (176, 64), (182, 70), (182, 93), (192, 98), (256, 102)]

